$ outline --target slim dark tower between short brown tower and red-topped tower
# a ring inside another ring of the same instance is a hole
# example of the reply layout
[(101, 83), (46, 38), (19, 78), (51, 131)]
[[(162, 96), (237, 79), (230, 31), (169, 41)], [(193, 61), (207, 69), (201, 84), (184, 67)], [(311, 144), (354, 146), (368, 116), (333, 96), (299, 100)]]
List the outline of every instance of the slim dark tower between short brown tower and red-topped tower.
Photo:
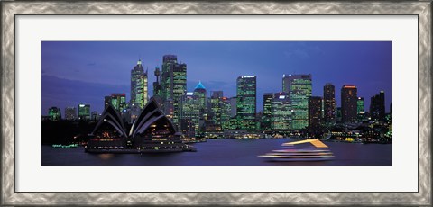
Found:
[(336, 122), (336, 87), (330, 83), (323, 86), (323, 120), (327, 123)]

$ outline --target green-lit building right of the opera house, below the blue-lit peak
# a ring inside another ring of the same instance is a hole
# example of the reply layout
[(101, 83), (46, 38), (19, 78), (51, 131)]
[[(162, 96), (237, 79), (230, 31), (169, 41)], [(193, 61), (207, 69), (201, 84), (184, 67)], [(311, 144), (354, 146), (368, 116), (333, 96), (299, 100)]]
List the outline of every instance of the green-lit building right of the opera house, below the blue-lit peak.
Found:
[(198, 96), (189, 92), (180, 99), (180, 130), (189, 137), (198, 137), (200, 135), (200, 107)]

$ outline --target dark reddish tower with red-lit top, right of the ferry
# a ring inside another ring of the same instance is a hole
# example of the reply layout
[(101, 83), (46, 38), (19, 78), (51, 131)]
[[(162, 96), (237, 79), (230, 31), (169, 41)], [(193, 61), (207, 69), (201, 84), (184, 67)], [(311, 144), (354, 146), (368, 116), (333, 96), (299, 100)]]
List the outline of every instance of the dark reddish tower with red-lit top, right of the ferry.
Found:
[(356, 121), (357, 102), (358, 94), (356, 86), (343, 85), (341, 88), (341, 121)]

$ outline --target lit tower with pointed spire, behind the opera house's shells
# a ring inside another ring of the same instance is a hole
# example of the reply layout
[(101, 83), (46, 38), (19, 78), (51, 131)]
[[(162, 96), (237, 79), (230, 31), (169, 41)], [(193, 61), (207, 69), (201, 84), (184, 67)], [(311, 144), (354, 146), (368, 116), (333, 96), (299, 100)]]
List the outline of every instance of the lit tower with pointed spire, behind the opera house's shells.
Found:
[(143, 109), (148, 99), (147, 85), (147, 70), (144, 72), (142, 60), (139, 59), (131, 70), (131, 107), (135, 105)]

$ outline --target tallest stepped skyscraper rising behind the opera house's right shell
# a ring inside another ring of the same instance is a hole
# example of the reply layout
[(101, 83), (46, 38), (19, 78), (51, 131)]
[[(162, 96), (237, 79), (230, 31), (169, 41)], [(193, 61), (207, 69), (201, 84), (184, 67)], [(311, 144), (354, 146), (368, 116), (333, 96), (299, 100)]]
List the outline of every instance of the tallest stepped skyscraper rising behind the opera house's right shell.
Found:
[(187, 92), (187, 64), (178, 63), (175, 55), (162, 57), (161, 99), (164, 112), (179, 126), (180, 98)]

